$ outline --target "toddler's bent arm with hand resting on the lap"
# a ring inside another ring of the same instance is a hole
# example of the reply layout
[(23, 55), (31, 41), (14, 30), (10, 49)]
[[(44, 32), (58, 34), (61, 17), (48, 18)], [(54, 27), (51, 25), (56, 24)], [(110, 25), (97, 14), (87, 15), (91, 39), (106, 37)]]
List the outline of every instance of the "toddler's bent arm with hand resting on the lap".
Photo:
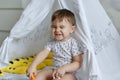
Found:
[(53, 78), (61, 78), (66, 72), (77, 71), (82, 65), (82, 54), (73, 57), (73, 60), (70, 64), (66, 64), (53, 73)]

